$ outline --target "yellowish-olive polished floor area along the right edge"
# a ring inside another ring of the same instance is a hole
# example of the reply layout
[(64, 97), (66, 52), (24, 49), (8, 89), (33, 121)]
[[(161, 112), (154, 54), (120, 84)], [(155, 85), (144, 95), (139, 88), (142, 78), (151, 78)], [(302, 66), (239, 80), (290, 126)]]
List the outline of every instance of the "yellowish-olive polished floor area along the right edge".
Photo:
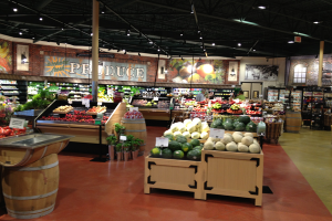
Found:
[(300, 134), (284, 133), (279, 143), (332, 213), (331, 131), (302, 128)]

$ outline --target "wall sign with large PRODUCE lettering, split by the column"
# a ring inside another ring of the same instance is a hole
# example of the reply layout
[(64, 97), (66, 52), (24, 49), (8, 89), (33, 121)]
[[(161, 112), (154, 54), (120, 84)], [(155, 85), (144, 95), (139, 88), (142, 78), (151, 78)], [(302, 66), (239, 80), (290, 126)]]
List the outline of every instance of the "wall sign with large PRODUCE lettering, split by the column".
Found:
[[(44, 76), (89, 78), (92, 61), (86, 59), (44, 56)], [(146, 65), (100, 61), (98, 78), (146, 82)]]

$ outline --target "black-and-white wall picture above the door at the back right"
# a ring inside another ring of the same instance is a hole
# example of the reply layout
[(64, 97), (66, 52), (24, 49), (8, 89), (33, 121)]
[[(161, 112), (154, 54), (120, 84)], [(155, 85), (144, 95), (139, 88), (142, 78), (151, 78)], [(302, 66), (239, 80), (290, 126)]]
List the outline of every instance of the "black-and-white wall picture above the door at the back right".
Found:
[(277, 81), (279, 66), (246, 64), (245, 80), (249, 81)]

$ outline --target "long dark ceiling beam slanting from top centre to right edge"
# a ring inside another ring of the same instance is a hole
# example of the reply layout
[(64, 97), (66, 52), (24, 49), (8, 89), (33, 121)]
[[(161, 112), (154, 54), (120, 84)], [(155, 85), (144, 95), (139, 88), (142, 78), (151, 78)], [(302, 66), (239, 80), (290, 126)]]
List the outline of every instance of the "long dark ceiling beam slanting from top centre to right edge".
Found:
[[(145, 0), (138, 0), (138, 1), (142, 2), (142, 3), (145, 3), (145, 4), (154, 6), (154, 7), (166, 8), (166, 9), (170, 9), (170, 10), (175, 10), (175, 11), (189, 13), (189, 10), (178, 9), (178, 8), (168, 7), (168, 6), (154, 3), (154, 2), (148, 2), (148, 1), (145, 1)], [(236, 19), (227, 19), (227, 18), (216, 17), (216, 15), (205, 14), (205, 13), (197, 13), (197, 14), (200, 15), (200, 17), (209, 18), (209, 19), (230, 22), (230, 23), (234, 23), (234, 24), (242, 24), (242, 25), (247, 25), (247, 27), (259, 28), (259, 29), (263, 29), (263, 30), (277, 31), (277, 32), (280, 32), (280, 33), (295, 35), (295, 33), (293, 33), (291, 31), (286, 31), (286, 30), (281, 30), (281, 29), (277, 29), (277, 28), (269, 28), (269, 27), (260, 25), (260, 24), (253, 23), (253, 22), (241, 21), (241, 20), (236, 20)], [(310, 35), (307, 35), (307, 34), (302, 35), (302, 36), (321, 41), (321, 38), (310, 36)], [(332, 40), (325, 40), (325, 42), (332, 43)]]

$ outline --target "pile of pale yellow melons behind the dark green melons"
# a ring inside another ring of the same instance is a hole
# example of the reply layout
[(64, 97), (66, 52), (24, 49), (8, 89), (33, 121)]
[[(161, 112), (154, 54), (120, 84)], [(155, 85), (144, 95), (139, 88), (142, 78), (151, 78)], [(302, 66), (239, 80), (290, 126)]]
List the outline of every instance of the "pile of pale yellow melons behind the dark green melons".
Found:
[(177, 138), (184, 136), (193, 139), (207, 139), (209, 137), (209, 125), (201, 122), (199, 118), (185, 119), (184, 123), (174, 123), (168, 130), (164, 133), (164, 137)]

